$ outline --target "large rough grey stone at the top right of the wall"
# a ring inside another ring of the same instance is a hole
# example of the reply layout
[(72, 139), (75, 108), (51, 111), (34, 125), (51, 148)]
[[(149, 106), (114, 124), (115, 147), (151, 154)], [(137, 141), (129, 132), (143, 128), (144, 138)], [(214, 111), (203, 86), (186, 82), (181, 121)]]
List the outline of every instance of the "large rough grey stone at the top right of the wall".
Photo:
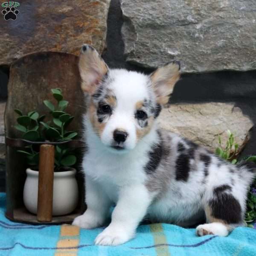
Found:
[(121, 0), (127, 60), (183, 72), (256, 69), (256, 1)]

